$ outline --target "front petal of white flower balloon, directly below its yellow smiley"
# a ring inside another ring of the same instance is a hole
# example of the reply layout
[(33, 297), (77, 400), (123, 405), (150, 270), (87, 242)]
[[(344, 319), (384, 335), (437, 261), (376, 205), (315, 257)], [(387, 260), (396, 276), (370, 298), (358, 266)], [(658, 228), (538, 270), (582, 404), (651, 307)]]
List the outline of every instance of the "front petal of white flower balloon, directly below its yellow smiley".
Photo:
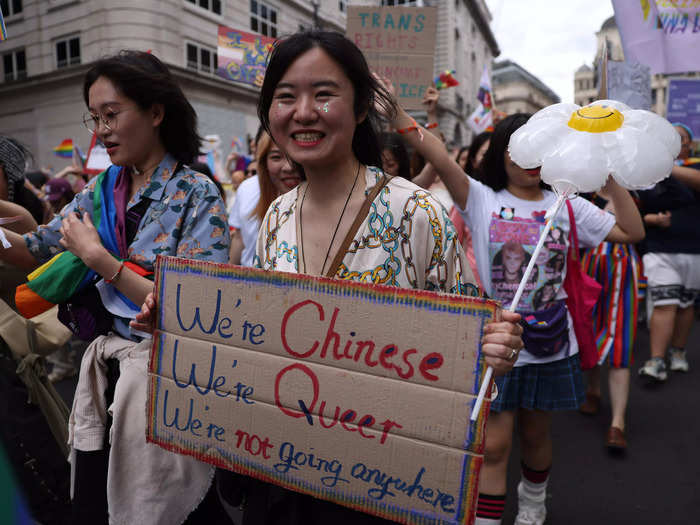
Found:
[(571, 130), (557, 150), (544, 157), (542, 180), (562, 193), (600, 189), (609, 173), (600, 135)]

